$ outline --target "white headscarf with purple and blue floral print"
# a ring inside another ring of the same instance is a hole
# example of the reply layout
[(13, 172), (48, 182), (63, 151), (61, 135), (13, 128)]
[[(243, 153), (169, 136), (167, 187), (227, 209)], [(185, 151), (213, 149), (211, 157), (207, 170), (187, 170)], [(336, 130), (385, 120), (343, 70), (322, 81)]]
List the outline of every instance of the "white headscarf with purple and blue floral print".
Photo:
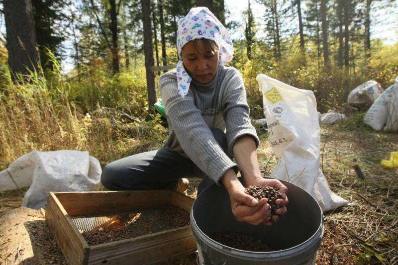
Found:
[(224, 65), (232, 60), (233, 46), (226, 28), (208, 10), (207, 7), (194, 7), (180, 21), (178, 21), (177, 50), (180, 60), (177, 63), (178, 93), (185, 96), (188, 93), (192, 78), (184, 68), (181, 50), (189, 41), (209, 39), (214, 41), (219, 49), (218, 64)]

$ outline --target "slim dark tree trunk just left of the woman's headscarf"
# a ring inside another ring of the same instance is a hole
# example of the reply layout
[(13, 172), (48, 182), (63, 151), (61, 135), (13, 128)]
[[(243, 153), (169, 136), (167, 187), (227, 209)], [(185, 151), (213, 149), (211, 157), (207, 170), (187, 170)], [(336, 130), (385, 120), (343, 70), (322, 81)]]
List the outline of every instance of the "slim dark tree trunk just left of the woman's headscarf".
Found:
[(152, 72), (154, 65), (153, 49), (152, 49), (152, 29), (151, 29), (151, 1), (141, 0), (142, 5), (142, 22), (144, 28), (144, 55), (146, 69), (146, 83), (148, 89), (148, 110), (154, 113), (153, 105), (156, 103), (155, 90), (155, 74)]

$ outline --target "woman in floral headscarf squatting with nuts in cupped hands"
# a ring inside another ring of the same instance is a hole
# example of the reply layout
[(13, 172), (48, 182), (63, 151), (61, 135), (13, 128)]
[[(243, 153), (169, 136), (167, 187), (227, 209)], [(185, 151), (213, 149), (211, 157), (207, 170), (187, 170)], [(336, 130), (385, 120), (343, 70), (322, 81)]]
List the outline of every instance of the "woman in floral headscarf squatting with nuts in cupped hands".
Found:
[[(177, 48), (176, 71), (159, 80), (169, 124), (165, 147), (108, 164), (102, 184), (113, 190), (179, 189), (182, 177), (203, 177), (198, 193), (223, 185), (238, 221), (270, 225), (286, 212), (287, 187), (261, 175), (242, 76), (224, 67), (233, 56), (228, 31), (206, 7), (195, 7), (178, 23)], [(276, 215), (266, 198), (258, 201), (244, 192), (244, 185), (258, 184), (280, 188)]]

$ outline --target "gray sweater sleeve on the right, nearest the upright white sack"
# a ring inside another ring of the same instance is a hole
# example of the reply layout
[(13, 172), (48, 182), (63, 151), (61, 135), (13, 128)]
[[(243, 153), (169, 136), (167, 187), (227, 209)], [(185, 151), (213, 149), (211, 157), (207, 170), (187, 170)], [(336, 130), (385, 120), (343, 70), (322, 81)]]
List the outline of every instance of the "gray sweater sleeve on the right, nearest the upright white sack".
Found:
[(225, 80), (226, 89), (223, 94), (223, 118), (226, 123), (226, 138), (228, 151), (232, 154), (235, 141), (243, 135), (253, 136), (256, 148), (259, 146), (259, 139), (256, 129), (253, 127), (249, 112), (250, 108), (246, 100), (246, 90), (242, 75), (235, 68), (230, 68)]

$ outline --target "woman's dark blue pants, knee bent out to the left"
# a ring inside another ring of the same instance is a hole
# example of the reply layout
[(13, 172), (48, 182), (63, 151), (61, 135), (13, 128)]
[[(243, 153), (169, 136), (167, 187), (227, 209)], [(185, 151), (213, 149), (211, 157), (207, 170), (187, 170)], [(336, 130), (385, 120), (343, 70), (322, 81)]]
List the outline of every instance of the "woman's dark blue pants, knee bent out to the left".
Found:
[[(212, 129), (215, 140), (227, 153), (225, 134)], [(228, 155), (232, 160), (233, 156)], [(214, 182), (192, 162), (168, 148), (125, 157), (105, 166), (101, 183), (109, 190), (173, 189), (182, 177), (202, 177), (198, 194)]]

